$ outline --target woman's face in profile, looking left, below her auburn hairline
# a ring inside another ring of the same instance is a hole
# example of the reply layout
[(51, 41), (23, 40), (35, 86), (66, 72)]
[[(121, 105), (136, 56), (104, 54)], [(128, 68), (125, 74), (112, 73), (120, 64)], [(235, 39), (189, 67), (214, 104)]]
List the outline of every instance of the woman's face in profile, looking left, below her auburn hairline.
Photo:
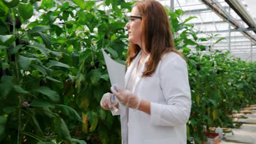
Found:
[[(132, 8), (131, 16), (141, 17), (137, 7)], [(141, 19), (130, 17), (130, 21), (126, 24), (126, 27), (128, 28), (128, 40), (130, 43), (141, 46)]]

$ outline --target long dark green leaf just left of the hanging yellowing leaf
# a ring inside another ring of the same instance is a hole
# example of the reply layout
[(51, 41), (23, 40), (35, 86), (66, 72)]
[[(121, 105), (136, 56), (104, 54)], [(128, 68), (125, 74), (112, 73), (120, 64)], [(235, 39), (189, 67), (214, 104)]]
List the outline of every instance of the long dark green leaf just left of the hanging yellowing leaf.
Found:
[(55, 105), (55, 109), (60, 111), (63, 115), (71, 119), (82, 122), (82, 118), (78, 115), (77, 111), (66, 105)]

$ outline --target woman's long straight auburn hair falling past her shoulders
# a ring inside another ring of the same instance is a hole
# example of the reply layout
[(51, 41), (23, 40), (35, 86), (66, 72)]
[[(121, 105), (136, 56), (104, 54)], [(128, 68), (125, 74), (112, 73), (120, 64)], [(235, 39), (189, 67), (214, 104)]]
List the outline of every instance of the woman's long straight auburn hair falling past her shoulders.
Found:
[[(175, 52), (182, 57), (183, 55), (175, 49), (171, 25), (161, 3), (154, 0), (144, 0), (136, 2), (134, 7), (138, 8), (142, 16), (141, 38), (146, 46), (144, 50), (150, 53), (142, 77), (152, 76), (165, 53)], [(128, 67), (141, 50), (143, 50), (142, 47), (130, 43), (126, 61)]]

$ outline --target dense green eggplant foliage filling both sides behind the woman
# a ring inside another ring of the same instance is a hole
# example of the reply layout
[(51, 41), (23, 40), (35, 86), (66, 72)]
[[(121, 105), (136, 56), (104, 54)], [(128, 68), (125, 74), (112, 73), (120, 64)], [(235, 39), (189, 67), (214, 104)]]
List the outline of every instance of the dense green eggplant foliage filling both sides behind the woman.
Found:
[[(100, 107), (110, 87), (101, 48), (124, 63), (131, 5), (0, 1), (1, 143), (121, 143), (119, 117)], [(232, 110), (255, 104), (256, 63), (211, 51), (214, 44), (200, 45), (216, 35), (197, 37), (200, 32), (187, 24), (196, 17), (181, 21), (181, 10), (166, 11), (188, 63), (193, 100), (188, 142), (201, 143), (210, 127), (237, 125), (228, 117)]]

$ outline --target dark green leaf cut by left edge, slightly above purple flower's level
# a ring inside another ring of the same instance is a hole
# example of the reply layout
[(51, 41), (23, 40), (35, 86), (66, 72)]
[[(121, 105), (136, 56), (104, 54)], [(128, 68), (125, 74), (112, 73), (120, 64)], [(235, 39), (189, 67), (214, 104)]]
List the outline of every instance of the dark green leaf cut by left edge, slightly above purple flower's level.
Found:
[(6, 97), (11, 91), (14, 84), (14, 78), (11, 76), (3, 75), (0, 81), (0, 97)]

